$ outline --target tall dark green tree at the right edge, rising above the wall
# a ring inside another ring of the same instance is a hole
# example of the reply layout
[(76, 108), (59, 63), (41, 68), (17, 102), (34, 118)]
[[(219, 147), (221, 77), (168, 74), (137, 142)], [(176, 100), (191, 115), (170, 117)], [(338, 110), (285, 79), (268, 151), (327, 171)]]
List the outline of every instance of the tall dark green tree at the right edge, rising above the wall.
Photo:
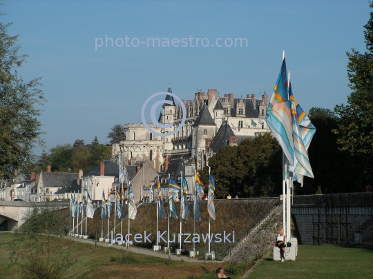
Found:
[[(370, 3), (373, 8), (373, 3)], [(372, 178), (373, 158), (373, 12), (364, 26), (367, 51), (361, 54), (356, 50), (347, 52), (347, 76), (352, 93), (347, 97), (347, 105), (336, 105), (338, 135), (337, 143), (341, 150), (360, 156), (364, 162), (365, 175)]]

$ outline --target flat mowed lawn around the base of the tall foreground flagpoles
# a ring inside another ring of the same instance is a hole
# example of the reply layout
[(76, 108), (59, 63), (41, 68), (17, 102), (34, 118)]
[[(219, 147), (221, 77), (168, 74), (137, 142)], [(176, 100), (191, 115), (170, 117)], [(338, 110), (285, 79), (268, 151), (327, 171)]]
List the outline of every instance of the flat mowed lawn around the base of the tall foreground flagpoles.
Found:
[(269, 251), (249, 273), (262, 278), (373, 278), (373, 247), (300, 245), (296, 261), (273, 261)]

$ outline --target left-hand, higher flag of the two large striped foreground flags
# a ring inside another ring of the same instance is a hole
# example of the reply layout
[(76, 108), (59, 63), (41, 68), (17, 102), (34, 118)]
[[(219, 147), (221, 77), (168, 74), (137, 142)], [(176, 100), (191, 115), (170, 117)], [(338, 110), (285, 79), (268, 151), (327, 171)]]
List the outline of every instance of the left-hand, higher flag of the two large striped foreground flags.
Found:
[(290, 165), (294, 165), (294, 142), (291, 127), (289, 90), (287, 88), (286, 63), (283, 59), (280, 74), (267, 108), (265, 121), (283, 149)]

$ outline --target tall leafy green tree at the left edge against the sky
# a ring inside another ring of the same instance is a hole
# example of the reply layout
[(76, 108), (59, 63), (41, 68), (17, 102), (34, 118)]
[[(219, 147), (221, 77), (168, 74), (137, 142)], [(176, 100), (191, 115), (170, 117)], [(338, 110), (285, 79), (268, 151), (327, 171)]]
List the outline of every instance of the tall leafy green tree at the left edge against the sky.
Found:
[(10, 36), (11, 24), (0, 22), (0, 176), (28, 169), (35, 159), (32, 148), (41, 141), (40, 105), (44, 94), (40, 79), (23, 81), (17, 70), (26, 61), (20, 55), (18, 36)]

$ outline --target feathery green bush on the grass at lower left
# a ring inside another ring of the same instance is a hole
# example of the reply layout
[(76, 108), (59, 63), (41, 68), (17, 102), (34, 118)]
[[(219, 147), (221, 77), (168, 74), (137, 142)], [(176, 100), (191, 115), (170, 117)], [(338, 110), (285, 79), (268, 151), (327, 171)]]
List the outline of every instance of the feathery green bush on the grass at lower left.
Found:
[(63, 278), (75, 265), (73, 242), (64, 239), (68, 227), (66, 214), (50, 203), (28, 212), (10, 244), (10, 261), (22, 278)]

